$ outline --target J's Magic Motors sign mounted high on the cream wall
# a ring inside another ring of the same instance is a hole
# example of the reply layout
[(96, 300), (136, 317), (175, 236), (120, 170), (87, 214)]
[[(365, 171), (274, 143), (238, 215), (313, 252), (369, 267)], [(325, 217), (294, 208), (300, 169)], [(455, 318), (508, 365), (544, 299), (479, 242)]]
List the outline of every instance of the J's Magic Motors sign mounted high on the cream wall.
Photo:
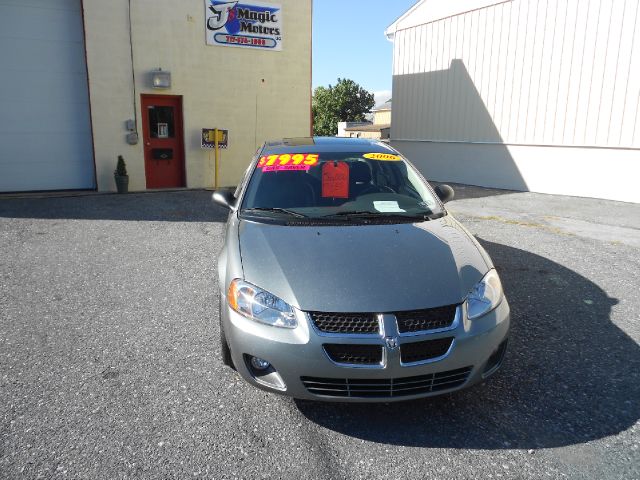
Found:
[(205, 0), (207, 45), (282, 50), (282, 7)]

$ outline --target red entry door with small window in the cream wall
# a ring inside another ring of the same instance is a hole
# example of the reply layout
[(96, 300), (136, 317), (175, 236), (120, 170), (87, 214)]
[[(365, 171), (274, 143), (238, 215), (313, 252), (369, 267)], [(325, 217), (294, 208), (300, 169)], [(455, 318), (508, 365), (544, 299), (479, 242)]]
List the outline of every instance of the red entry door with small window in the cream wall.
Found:
[(182, 97), (141, 95), (147, 188), (184, 187)]

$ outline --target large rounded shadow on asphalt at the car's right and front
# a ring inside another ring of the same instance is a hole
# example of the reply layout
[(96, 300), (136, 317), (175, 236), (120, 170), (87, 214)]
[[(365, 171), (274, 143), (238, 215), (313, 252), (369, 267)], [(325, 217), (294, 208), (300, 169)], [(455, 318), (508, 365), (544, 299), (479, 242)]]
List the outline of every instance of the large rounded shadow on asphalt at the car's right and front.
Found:
[(596, 284), (538, 255), (482, 241), (512, 312), (502, 370), (455, 394), (395, 404), (296, 401), (352, 437), (437, 448), (550, 448), (617, 434), (640, 418), (640, 347)]

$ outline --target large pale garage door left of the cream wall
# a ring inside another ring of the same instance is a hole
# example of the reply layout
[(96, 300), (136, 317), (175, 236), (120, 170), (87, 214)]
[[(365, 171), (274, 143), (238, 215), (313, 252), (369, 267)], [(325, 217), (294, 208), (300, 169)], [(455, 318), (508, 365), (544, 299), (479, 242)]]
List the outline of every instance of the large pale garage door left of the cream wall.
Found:
[(94, 188), (80, 0), (0, 0), (0, 191)]

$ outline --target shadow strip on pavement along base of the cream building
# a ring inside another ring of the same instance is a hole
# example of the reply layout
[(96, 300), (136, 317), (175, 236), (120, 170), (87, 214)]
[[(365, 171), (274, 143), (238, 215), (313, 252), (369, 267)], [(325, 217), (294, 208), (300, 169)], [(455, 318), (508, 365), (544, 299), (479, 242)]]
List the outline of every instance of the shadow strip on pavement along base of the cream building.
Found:
[(205, 190), (0, 199), (0, 217), (155, 222), (226, 222)]

